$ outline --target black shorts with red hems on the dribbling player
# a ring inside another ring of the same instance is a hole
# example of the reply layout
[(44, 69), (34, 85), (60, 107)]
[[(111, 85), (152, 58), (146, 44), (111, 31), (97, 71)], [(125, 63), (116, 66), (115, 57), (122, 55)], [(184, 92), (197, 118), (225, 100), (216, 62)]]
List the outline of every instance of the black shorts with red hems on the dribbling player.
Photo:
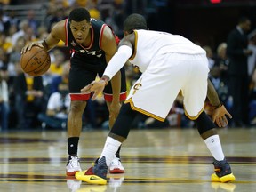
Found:
[[(106, 68), (105, 63), (100, 63), (97, 65), (87, 64), (79, 58), (72, 57), (70, 60), (71, 68), (69, 71), (68, 85), (71, 100), (89, 100), (91, 94), (82, 94), (81, 89), (87, 84), (92, 83), (95, 80), (97, 74), (101, 77)], [(124, 67), (121, 68), (121, 92), (120, 101), (126, 99), (126, 78)], [(112, 85), (111, 81), (105, 87), (104, 91), (105, 100), (112, 100)]]

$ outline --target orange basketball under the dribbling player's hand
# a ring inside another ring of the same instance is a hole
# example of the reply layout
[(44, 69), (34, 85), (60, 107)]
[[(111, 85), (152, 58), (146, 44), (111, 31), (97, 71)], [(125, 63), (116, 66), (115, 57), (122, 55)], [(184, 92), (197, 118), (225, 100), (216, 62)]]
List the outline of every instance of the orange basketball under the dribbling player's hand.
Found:
[(30, 51), (21, 55), (20, 66), (30, 76), (42, 76), (51, 65), (48, 52), (39, 46), (32, 46)]

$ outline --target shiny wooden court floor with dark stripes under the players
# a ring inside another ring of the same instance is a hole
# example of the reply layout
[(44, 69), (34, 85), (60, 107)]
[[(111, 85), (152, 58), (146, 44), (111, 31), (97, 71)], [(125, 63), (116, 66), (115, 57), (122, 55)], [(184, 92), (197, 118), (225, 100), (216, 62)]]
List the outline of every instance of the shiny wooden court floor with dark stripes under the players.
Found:
[[(223, 150), (236, 176), (212, 183), (212, 156), (196, 129), (130, 132), (121, 154), (124, 174), (109, 175), (108, 185), (88, 185), (65, 176), (65, 131), (0, 132), (0, 191), (144, 192), (256, 191), (256, 128), (219, 129)], [(108, 131), (83, 131), (82, 169), (100, 156)]]

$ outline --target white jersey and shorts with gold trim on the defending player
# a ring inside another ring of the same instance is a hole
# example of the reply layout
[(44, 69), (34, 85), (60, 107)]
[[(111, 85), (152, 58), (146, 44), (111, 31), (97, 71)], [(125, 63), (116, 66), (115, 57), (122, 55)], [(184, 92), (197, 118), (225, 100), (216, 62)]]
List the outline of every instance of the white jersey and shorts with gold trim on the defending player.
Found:
[(140, 68), (142, 75), (125, 103), (164, 121), (181, 91), (185, 114), (196, 119), (204, 110), (207, 93), (209, 68), (205, 51), (182, 36), (148, 30), (134, 33), (130, 62)]

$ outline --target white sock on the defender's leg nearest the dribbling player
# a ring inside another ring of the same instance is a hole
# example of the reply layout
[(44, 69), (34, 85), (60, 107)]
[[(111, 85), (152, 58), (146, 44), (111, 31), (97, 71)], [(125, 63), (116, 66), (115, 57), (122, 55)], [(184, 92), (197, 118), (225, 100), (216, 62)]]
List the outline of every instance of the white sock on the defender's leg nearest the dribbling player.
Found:
[(107, 140), (105, 142), (105, 146), (102, 150), (100, 158), (102, 156), (105, 156), (106, 164), (108, 167), (111, 164), (112, 160), (116, 157), (116, 151), (118, 150), (121, 144), (122, 143), (119, 142), (118, 140), (115, 140), (109, 136), (107, 137)]

